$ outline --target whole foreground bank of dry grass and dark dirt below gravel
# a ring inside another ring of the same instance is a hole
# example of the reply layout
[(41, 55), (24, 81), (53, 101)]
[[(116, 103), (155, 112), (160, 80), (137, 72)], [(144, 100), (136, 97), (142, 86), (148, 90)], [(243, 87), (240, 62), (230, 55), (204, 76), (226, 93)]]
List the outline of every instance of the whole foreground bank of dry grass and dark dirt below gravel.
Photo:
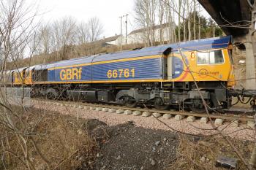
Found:
[[(85, 119), (58, 112), (30, 109), (23, 123), (33, 128), (34, 139), (51, 169), (74, 170), (175, 170), (222, 169), (215, 167), (218, 155), (238, 159), (233, 148), (219, 136), (186, 136), (173, 131), (142, 128), (126, 121), (107, 125), (97, 119)], [(39, 120), (39, 121), (38, 121)], [(18, 123), (18, 122), (17, 122)], [(6, 131), (0, 125), (0, 135)], [(15, 138), (9, 146), (22, 158)], [(248, 161), (252, 142), (230, 139)], [(4, 145), (6, 145), (4, 143)], [(30, 160), (38, 170), (46, 170), (34, 148), (29, 144)], [(26, 169), (15, 156), (3, 156), (0, 145), (0, 169)], [(238, 159), (238, 170), (245, 166)]]

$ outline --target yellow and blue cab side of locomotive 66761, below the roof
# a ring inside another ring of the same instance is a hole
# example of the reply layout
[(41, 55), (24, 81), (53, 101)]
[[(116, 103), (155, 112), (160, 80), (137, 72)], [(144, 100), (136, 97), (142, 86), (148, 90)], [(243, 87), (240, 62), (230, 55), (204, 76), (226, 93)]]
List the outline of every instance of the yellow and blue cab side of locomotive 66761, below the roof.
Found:
[[(178, 82), (233, 79), (233, 62), (227, 49), (173, 52), (167, 57), (167, 80)], [(229, 84), (232, 85), (232, 84)]]

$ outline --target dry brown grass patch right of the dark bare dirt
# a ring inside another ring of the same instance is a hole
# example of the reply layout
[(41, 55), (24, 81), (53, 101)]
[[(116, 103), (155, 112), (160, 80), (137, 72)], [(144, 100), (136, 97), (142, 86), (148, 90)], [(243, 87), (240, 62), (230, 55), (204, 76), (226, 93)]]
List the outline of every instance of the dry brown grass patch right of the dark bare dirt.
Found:
[[(233, 144), (248, 160), (250, 151), (252, 151), (252, 142), (233, 140)], [(220, 170), (223, 168), (215, 166), (219, 155), (238, 158), (230, 145), (220, 137), (205, 137), (197, 141), (190, 137), (180, 136), (176, 159), (170, 162), (168, 169)], [(237, 170), (244, 169), (246, 169), (246, 166), (241, 161), (238, 161)]]

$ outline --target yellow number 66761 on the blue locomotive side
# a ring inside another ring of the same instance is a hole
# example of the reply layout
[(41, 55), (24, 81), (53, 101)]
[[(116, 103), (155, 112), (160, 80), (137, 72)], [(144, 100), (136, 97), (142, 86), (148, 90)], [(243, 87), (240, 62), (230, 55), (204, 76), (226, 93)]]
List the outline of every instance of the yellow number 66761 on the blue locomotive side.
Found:
[(135, 69), (113, 69), (108, 70), (107, 77), (110, 78), (128, 78), (135, 77)]

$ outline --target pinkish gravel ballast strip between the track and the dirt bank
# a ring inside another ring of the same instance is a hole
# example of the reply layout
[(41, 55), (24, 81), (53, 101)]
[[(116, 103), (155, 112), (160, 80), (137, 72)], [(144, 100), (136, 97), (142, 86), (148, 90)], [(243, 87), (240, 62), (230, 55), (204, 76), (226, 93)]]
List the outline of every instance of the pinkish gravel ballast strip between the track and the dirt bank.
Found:
[[(42, 104), (41, 101), (36, 101), (32, 104), (32, 107), (37, 109), (45, 109), (50, 111), (60, 112), (64, 115), (74, 115), (78, 117), (83, 117), (86, 119), (98, 119), (108, 125), (118, 125), (120, 123), (127, 123), (128, 121), (133, 121), (135, 125), (143, 128), (152, 128), (173, 131), (181, 131), (186, 134), (195, 134), (195, 135), (212, 135), (217, 134), (216, 130), (213, 130), (211, 123), (200, 123), (200, 119), (197, 118), (195, 122), (187, 123), (187, 117), (183, 120), (175, 120), (174, 117), (171, 117), (169, 120), (159, 117), (157, 120), (154, 117), (142, 117), (134, 115), (124, 115), (103, 111), (95, 111), (89, 109), (80, 109), (75, 107), (67, 106), (56, 106), (55, 104)], [(106, 107), (108, 107), (106, 105)], [(165, 125), (166, 124), (166, 125)], [(167, 127), (169, 126), (169, 127)], [(230, 122), (225, 122), (223, 125), (219, 125), (218, 129), (222, 131), (223, 134), (236, 139), (244, 140), (255, 140), (255, 130), (249, 128), (246, 124), (239, 124), (239, 127), (232, 125)]]

